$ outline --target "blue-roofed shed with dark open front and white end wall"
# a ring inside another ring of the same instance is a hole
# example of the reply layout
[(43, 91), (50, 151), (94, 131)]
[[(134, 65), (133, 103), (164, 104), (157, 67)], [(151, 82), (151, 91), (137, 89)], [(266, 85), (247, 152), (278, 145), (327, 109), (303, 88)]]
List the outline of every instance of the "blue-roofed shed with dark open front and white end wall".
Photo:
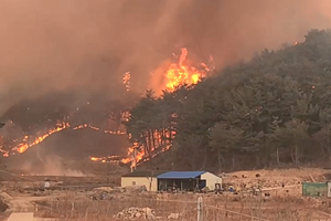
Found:
[(222, 178), (207, 171), (169, 171), (157, 178), (159, 191), (167, 191), (169, 188), (185, 191), (203, 188), (214, 190), (216, 183), (222, 186)]

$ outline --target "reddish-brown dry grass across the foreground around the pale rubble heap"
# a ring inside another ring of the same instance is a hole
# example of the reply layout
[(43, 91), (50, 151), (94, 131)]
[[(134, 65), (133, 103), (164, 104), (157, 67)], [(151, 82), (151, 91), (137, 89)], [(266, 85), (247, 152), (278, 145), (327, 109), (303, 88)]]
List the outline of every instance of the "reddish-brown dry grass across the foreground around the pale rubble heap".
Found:
[[(261, 197), (207, 196), (204, 200), (205, 220), (325, 220), (331, 210), (316, 200), (298, 197)], [(84, 193), (67, 193), (63, 199), (39, 203), (40, 217), (58, 218), (60, 220), (108, 221), (119, 211), (130, 208), (149, 207), (157, 217), (167, 220), (170, 213), (182, 214), (180, 220), (196, 220), (197, 194), (118, 194), (111, 200), (92, 201)], [(325, 203), (328, 204), (328, 203)], [(323, 210), (323, 211), (322, 211)]]

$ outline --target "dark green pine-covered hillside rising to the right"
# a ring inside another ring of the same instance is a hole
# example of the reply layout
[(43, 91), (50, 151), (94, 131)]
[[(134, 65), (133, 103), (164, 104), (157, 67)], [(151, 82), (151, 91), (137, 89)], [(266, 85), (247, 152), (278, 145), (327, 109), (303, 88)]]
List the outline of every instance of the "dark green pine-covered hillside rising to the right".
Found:
[(305, 38), (279, 51), (265, 50), (197, 85), (161, 97), (148, 91), (126, 123), (131, 141), (146, 152), (171, 143), (163, 162), (177, 169), (327, 162), (331, 31), (312, 30)]

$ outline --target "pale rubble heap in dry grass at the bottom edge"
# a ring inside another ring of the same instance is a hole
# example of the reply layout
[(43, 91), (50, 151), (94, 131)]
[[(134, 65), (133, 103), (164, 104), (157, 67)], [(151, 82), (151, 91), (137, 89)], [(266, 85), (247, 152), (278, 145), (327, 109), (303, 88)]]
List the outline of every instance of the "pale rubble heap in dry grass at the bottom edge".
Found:
[(125, 220), (138, 220), (138, 219), (146, 219), (146, 220), (157, 220), (156, 212), (153, 209), (150, 208), (128, 208), (124, 209), (116, 215), (115, 219), (125, 219)]

